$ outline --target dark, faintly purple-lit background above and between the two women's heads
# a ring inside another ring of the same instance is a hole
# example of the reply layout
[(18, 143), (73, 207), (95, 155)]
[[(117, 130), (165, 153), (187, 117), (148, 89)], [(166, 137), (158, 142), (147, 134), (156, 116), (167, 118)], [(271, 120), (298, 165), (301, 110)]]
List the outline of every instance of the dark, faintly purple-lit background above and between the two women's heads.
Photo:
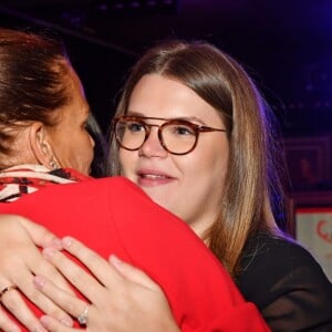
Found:
[(255, 79), (291, 151), (318, 156), (314, 188), (330, 189), (331, 0), (2, 0), (0, 25), (63, 38), (103, 131), (146, 48), (170, 37), (212, 42)]

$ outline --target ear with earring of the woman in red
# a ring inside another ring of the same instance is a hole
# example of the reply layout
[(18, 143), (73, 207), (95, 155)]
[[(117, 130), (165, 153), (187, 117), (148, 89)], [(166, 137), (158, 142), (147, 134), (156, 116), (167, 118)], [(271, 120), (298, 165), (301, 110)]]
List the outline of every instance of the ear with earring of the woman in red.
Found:
[(41, 122), (31, 124), (29, 139), (38, 163), (50, 169), (58, 168), (52, 144), (49, 139), (45, 126)]

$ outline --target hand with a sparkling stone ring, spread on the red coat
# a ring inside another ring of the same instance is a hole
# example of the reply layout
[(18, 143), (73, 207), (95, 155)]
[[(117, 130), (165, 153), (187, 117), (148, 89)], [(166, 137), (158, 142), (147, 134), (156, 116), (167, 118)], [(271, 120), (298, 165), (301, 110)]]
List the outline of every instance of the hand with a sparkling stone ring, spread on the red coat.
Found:
[[(54, 248), (43, 250), (48, 259), (91, 302), (86, 331), (179, 331), (167, 298), (143, 271), (115, 256), (111, 256), (110, 263), (75, 239), (65, 238), (62, 243), (65, 250), (81, 260), (94, 274), (79, 267), (62, 251)], [(85, 300), (66, 293), (44, 277), (37, 276), (34, 284), (73, 317), (84, 317), (87, 305)], [(41, 322), (48, 331), (75, 331), (50, 317), (43, 317)]]

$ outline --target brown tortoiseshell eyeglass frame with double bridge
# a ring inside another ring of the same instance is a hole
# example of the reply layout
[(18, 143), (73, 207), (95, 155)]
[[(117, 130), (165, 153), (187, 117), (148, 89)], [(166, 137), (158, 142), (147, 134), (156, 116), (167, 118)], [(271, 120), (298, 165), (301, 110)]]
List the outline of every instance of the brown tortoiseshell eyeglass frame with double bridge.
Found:
[[(145, 137), (143, 143), (136, 147), (136, 148), (128, 148), (126, 146), (124, 146), (120, 139), (120, 137), (117, 137), (117, 132), (116, 132), (116, 125), (118, 122), (123, 121), (123, 120), (136, 120), (139, 124), (142, 124), (144, 126), (144, 131), (145, 131)], [(163, 124), (157, 125), (157, 124), (148, 124), (146, 123), (144, 120), (156, 120), (156, 121), (165, 121)], [(188, 127), (190, 127), (194, 133), (195, 133), (195, 144), (193, 145), (193, 147), (185, 152), (185, 153), (174, 153), (172, 151), (169, 151), (166, 146), (166, 144), (164, 143), (163, 139), (163, 128), (165, 126), (168, 126), (172, 123), (176, 123), (176, 124), (184, 124)], [(142, 148), (142, 146), (144, 145), (144, 143), (148, 139), (149, 134), (151, 134), (151, 128), (152, 127), (157, 127), (158, 128), (158, 139), (160, 145), (163, 146), (163, 148), (168, 152), (172, 155), (177, 155), (177, 156), (183, 156), (183, 155), (187, 155), (190, 152), (193, 152), (195, 149), (195, 147), (197, 146), (197, 142), (198, 142), (198, 137), (200, 133), (210, 133), (210, 132), (224, 132), (227, 133), (227, 129), (220, 129), (220, 128), (214, 128), (214, 127), (209, 127), (209, 126), (203, 126), (203, 125), (198, 125), (195, 123), (191, 123), (190, 121), (187, 120), (181, 120), (181, 118), (165, 118), (165, 117), (154, 117), (154, 116), (136, 116), (136, 115), (121, 115), (121, 116), (116, 116), (112, 120), (112, 125), (113, 125), (113, 135), (115, 136), (116, 142), (118, 143), (118, 145), (126, 149), (126, 151), (138, 151), (139, 148)]]

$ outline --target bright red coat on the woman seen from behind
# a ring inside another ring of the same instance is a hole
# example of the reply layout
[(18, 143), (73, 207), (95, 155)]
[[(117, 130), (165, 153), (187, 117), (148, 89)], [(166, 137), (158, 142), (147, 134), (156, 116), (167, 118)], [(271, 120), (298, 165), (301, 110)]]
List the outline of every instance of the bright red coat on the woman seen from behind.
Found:
[(20, 214), (143, 269), (163, 288), (181, 331), (269, 331), (189, 227), (125, 178), (40, 189), (0, 204), (0, 212)]

